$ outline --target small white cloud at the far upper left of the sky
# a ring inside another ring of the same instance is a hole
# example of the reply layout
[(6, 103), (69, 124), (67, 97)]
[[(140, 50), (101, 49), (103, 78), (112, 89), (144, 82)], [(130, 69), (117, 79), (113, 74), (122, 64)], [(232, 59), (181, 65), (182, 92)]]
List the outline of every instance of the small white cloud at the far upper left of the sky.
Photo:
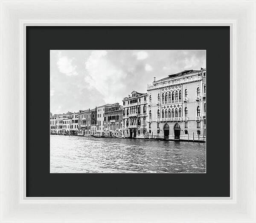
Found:
[(59, 59), (57, 61), (58, 69), (61, 73), (64, 73), (68, 76), (76, 76), (78, 73), (76, 72), (76, 66), (72, 66), (72, 59), (67, 57), (62, 57), (61, 52), (59, 53)]

